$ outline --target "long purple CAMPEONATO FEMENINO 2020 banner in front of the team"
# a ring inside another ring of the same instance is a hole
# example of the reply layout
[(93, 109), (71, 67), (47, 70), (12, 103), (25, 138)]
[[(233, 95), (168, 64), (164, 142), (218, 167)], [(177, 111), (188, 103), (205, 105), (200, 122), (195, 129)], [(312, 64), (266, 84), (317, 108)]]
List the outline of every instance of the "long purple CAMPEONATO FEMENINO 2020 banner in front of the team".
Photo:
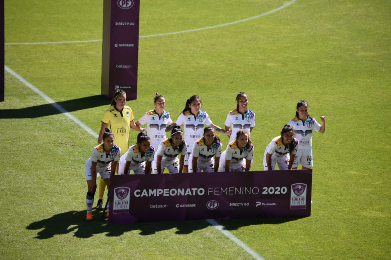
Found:
[(312, 169), (114, 175), (110, 183), (110, 224), (311, 215)]

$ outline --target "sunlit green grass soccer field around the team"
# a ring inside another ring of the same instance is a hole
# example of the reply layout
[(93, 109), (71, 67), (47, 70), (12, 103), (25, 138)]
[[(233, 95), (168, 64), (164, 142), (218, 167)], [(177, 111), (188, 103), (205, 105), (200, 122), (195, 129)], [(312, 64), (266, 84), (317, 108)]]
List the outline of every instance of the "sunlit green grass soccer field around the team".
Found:
[(156, 92), (174, 121), (198, 94), (224, 128), (245, 91), (258, 171), (306, 100), (326, 117), (313, 136), (311, 216), (108, 225), (93, 210), (86, 221), (84, 164), (110, 103), (100, 96), (102, 1), (5, 0), (0, 259), (391, 259), (391, 2), (140, 6), (135, 119)]

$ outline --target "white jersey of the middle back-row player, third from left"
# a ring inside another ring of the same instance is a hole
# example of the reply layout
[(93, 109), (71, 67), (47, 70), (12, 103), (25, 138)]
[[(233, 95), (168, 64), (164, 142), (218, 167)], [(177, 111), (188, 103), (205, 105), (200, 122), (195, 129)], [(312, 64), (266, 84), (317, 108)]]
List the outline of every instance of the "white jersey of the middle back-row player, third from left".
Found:
[(189, 148), (188, 153), (191, 153), (194, 142), (203, 137), (204, 126), (212, 125), (212, 121), (210, 120), (208, 113), (203, 110), (199, 110), (197, 117), (194, 117), (190, 111), (186, 111), (179, 115), (176, 124), (179, 126), (183, 125), (183, 128), (185, 129), (183, 139)]

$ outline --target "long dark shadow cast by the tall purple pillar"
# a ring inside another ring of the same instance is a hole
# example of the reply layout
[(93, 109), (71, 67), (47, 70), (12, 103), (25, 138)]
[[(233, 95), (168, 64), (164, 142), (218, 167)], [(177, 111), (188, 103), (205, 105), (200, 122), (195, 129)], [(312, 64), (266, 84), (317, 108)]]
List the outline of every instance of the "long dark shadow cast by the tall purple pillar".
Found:
[[(109, 107), (109, 104), (110, 101), (102, 95), (57, 102), (57, 105), (61, 106), (67, 112), (89, 109), (91, 107), (100, 107), (102, 105), (107, 105), (107, 107)], [(22, 109), (0, 109), (0, 118), (39, 118), (42, 116), (52, 116), (63, 113), (59, 111), (55, 105), (56, 104), (51, 103), (34, 107), (25, 107)]]

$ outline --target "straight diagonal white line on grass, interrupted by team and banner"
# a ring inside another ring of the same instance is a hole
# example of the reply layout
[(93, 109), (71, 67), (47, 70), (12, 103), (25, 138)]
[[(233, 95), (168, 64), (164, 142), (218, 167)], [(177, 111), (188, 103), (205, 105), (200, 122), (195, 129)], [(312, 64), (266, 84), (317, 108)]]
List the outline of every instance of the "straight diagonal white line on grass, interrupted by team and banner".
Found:
[[(4, 70), (6, 70), (8, 73), (13, 75), (15, 78), (17, 78), (20, 82), (25, 84), (27, 87), (32, 89), (35, 93), (37, 93), (39, 96), (41, 96), (44, 100), (46, 100), (48, 103), (53, 105), (59, 112), (64, 114), (66, 117), (74, 121), (77, 125), (81, 126), (84, 130), (86, 130), (89, 134), (91, 134), (93, 137), (98, 139), (98, 134), (96, 134), (91, 128), (86, 126), (83, 122), (81, 122), (79, 119), (75, 118), (70, 114), (68, 111), (66, 111), (63, 107), (61, 107), (59, 104), (54, 102), (51, 98), (49, 98), (46, 94), (44, 94), (42, 91), (40, 91), (38, 88), (34, 87), (34, 85), (30, 84), (27, 80), (25, 80), (23, 77), (21, 77), (18, 73), (13, 71), (12, 69), (8, 68), (7, 66), (4, 65)], [(212, 226), (214, 226), (217, 230), (219, 230), (221, 233), (226, 235), (229, 239), (231, 239), (233, 242), (235, 242), (237, 245), (239, 245), (241, 248), (243, 248), (247, 253), (249, 253), (251, 256), (253, 256), (255, 259), (263, 260), (260, 255), (258, 255), (253, 249), (249, 248), (242, 240), (238, 239), (233, 235), (231, 232), (226, 230), (223, 226), (221, 226), (217, 221), (213, 219), (207, 219), (208, 223), (210, 223)]]

